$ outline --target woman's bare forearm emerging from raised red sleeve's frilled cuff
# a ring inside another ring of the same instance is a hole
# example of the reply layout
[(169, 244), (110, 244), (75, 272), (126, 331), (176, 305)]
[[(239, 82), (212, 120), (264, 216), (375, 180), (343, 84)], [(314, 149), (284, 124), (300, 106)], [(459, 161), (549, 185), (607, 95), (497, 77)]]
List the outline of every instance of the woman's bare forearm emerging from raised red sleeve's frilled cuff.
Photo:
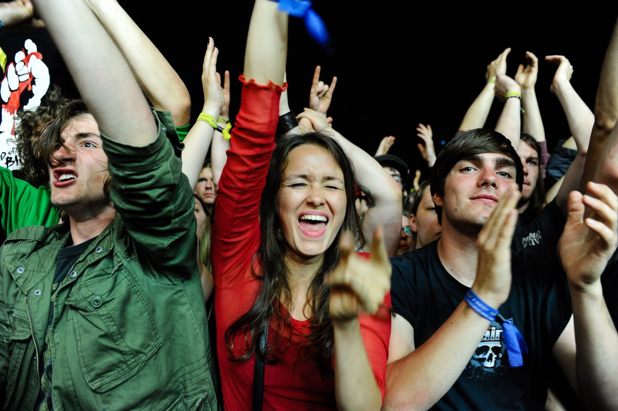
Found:
[(256, 0), (245, 49), (245, 78), (258, 85), (283, 84), (287, 58), (287, 14), (278, 4)]

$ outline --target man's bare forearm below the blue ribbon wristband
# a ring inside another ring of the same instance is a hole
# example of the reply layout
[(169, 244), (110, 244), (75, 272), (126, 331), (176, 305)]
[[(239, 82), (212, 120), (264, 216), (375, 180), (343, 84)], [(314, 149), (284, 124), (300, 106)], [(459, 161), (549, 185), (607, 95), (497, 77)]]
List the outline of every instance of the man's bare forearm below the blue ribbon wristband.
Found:
[(425, 410), (436, 404), (470, 362), (488, 325), (462, 301), (430, 339), (387, 365), (384, 409)]

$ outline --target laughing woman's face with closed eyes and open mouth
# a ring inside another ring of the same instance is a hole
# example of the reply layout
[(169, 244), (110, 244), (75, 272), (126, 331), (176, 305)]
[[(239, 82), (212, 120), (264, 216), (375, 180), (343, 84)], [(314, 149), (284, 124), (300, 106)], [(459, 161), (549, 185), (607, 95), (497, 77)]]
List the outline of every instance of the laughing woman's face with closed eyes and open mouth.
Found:
[(306, 260), (331, 246), (344, 222), (344, 174), (330, 152), (305, 144), (289, 152), (277, 193), (277, 215), (292, 259)]

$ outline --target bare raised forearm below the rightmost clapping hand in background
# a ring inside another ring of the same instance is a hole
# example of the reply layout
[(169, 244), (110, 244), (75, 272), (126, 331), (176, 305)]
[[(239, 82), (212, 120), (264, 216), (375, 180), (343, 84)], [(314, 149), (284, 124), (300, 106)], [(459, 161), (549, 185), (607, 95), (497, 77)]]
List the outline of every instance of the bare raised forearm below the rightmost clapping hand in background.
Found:
[(582, 98), (577, 94), (571, 83), (557, 83), (554, 93), (560, 101), (569, 123), (569, 130), (577, 144), (577, 151), (586, 154), (590, 135), (595, 125), (595, 115)]

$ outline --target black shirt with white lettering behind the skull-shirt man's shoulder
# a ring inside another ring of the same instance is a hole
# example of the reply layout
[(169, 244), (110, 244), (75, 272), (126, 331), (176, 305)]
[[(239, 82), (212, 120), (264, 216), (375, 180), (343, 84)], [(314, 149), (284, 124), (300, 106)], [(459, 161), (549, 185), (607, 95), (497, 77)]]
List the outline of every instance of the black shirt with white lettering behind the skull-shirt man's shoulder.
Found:
[(541, 211), (541, 214), (527, 222), (520, 216), (515, 226), (513, 235), (512, 249), (522, 251), (523, 249), (539, 250), (546, 247), (546, 252), (556, 253), (556, 244), (564, 230), (567, 219), (556, 204), (556, 199), (550, 202)]

